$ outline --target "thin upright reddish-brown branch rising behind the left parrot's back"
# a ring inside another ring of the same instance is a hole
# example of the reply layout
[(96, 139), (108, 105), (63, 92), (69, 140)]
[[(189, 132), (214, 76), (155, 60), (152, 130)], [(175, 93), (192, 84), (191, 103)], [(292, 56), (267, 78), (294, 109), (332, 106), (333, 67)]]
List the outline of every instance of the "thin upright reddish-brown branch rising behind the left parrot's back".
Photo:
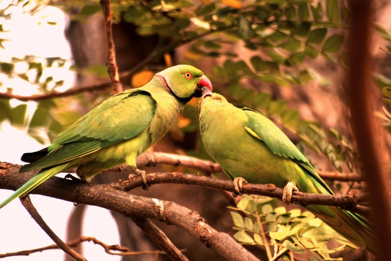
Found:
[(110, 76), (112, 83), (112, 89), (114, 93), (122, 92), (122, 84), (119, 81), (118, 66), (115, 61), (115, 46), (112, 34), (112, 22), (111, 22), (111, 11), (110, 11), (110, 0), (100, 0), (102, 6), (103, 19), (105, 22), (104, 31), (106, 33), (106, 51), (107, 51), (107, 72)]

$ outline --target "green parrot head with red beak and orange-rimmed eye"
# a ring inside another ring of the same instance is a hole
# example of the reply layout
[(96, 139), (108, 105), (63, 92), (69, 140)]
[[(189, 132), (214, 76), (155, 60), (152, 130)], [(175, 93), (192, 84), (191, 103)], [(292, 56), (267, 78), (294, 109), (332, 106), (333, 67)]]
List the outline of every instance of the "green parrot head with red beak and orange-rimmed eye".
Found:
[(212, 83), (204, 73), (191, 65), (176, 65), (156, 73), (163, 85), (183, 103), (192, 97), (200, 97), (206, 87), (212, 91)]

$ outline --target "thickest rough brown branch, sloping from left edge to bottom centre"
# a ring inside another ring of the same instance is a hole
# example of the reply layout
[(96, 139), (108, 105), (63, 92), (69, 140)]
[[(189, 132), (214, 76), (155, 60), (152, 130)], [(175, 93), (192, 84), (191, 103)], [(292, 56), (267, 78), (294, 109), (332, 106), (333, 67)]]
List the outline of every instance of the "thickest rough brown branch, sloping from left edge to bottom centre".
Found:
[[(15, 190), (36, 174), (18, 173), (19, 165), (0, 163), (0, 188)], [(107, 184), (94, 185), (52, 177), (33, 191), (81, 204), (96, 205), (132, 218), (152, 218), (176, 225), (229, 261), (258, 260), (226, 233), (209, 226), (205, 219), (190, 209), (173, 202), (131, 195)]]

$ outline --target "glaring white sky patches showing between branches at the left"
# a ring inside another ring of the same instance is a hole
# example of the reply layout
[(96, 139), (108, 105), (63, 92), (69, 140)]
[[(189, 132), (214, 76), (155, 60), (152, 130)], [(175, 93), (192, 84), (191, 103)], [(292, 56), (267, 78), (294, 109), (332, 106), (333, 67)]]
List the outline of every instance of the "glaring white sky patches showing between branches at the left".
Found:
[[(8, 5), (9, 2), (10, 0), (0, 1), (0, 9)], [(4, 48), (0, 48), (0, 56), (3, 61), (10, 60), (12, 57), (23, 58), (27, 54), (41, 57), (72, 58), (69, 44), (64, 36), (64, 29), (69, 19), (61, 10), (49, 6), (39, 10), (32, 16), (29, 13), (23, 13), (22, 8), (17, 6), (12, 7), (12, 9), (9, 8), (8, 11), (12, 12), (11, 19), (5, 20), (0, 18), (0, 24), (3, 24), (4, 30), (4, 32), (1, 32), (0, 38), (9, 39), (2, 41)], [(69, 61), (63, 67), (53, 65), (51, 68), (45, 68), (42, 78), (45, 78), (45, 73), (49, 73), (53, 75), (53, 81), (64, 80), (64, 84), (57, 90), (69, 88), (73, 84), (75, 77), (75, 73), (68, 70), (70, 64), (71, 62)], [(26, 66), (28, 65), (25, 62), (16, 63), (15, 70), (16, 72), (25, 71)], [(29, 73), (34, 72), (29, 71)], [(5, 92), (7, 85), (12, 85), (15, 86), (13, 89), (14, 94), (36, 94), (37, 89), (19, 77), (8, 79), (5, 74), (0, 74), (0, 81), (3, 83), (3, 87), (0, 87), (0, 92)], [(12, 99), (10, 103), (12, 106), (17, 106), (21, 102)], [(28, 102), (27, 117), (32, 116), (35, 107), (36, 102)], [(23, 152), (36, 151), (49, 145), (47, 135), (42, 135), (42, 138), (45, 139), (45, 144), (40, 144), (26, 134), (27, 128), (15, 128), (7, 120), (2, 121), (0, 124), (1, 161), (23, 164), (20, 160)], [(64, 174), (59, 176), (64, 176)], [(1, 189), (1, 200), (11, 192), (10, 190)], [(61, 239), (65, 240), (66, 224), (69, 214), (72, 212), (72, 208), (74, 208), (73, 204), (40, 195), (31, 195), (31, 200), (46, 223)], [(53, 241), (30, 217), (19, 200), (14, 200), (1, 209), (0, 220), (0, 253), (53, 244)], [(105, 225), (102, 226), (102, 223)], [(104, 239), (104, 242), (107, 244), (119, 243), (116, 224), (106, 209), (88, 206), (84, 215), (82, 229), (82, 235)], [(120, 256), (104, 253), (101, 246), (93, 243), (83, 243), (83, 255), (91, 260), (99, 260), (102, 255), (104, 255), (105, 260), (114, 261), (120, 259)], [(62, 250), (46, 250), (29, 256), (7, 257), (7, 260), (62, 260), (63, 257), (64, 252)]]

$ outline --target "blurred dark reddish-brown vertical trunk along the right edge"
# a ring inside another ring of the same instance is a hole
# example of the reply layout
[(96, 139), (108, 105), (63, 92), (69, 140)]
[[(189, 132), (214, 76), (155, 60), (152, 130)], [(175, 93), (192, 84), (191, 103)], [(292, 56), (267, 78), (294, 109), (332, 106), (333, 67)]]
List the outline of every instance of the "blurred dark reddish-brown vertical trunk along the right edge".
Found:
[[(374, 209), (373, 223), (379, 249), (379, 260), (389, 260), (391, 245), (391, 202), (388, 193), (388, 177), (383, 161), (383, 142), (380, 122), (373, 115), (376, 110), (371, 50), (374, 21), (373, 0), (350, 0), (351, 27), (349, 52), (351, 53), (348, 94), (352, 111), (352, 127), (358, 151), (364, 165), (366, 182)], [(384, 147), (384, 146), (383, 146)]]

